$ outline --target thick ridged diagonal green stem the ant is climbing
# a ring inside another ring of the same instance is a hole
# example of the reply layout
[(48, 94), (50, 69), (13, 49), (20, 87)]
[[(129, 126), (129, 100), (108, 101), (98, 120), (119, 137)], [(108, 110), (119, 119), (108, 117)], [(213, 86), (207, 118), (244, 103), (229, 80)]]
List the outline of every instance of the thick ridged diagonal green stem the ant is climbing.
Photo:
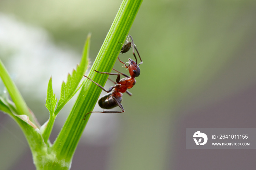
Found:
[[(88, 75), (88, 77), (102, 86), (106, 83), (108, 75), (98, 74), (94, 70), (111, 72), (119, 54), (114, 50), (121, 49), (121, 45), (118, 42), (124, 42), (125, 34), (128, 34), (141, 3), (142, 0), (123, 0), (117, 12), (116, 18)], [(55, 152), (56, 158), (61, 162), (68, 163), (67, 165), (71, 162), (76, 146), (89, 119), (89, 116), (87, 116), (86, 120), (83, 120), (84, 115), (93, 110), (101, 91), (95, 84), (85, 79), (76, 103), (52, 147), (52, 152)]]

